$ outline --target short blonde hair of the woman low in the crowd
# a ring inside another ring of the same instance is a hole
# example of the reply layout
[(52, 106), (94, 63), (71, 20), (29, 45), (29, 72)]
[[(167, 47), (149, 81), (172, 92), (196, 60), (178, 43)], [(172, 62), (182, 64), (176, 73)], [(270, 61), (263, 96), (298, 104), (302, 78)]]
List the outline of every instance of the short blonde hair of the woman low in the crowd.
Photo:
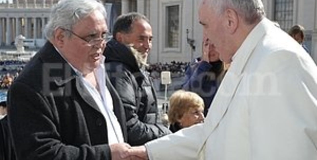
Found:
[(196, 93), (177, 90), (170, 97), (170, 109), (168, 110), (168, 121), (177, 123), (190, 108), (204, 106), (204, 100)]

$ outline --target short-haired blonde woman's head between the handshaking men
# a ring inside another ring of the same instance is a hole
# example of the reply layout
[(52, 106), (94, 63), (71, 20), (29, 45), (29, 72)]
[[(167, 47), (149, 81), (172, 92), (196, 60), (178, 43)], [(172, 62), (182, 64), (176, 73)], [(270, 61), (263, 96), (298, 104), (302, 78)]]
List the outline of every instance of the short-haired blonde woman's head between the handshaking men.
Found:
[(194, 92), (184, 90), (174, 92), (170, 97), (168, 120), (172, 132), (203, 123), (204, 100)]

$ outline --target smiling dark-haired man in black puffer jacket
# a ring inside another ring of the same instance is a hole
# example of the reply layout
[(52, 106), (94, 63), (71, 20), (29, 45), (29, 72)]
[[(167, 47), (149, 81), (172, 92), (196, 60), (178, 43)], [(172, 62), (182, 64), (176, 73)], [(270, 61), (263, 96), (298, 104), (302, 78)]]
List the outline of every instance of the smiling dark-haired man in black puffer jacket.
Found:
[(170, 132), (159, 123), (157, 97), (144, 70), (152, 47), (152, 27), (139, 13), (118, 17), (106, 46), (106, 69), (124, 105), (128, 143), (141, 145)]

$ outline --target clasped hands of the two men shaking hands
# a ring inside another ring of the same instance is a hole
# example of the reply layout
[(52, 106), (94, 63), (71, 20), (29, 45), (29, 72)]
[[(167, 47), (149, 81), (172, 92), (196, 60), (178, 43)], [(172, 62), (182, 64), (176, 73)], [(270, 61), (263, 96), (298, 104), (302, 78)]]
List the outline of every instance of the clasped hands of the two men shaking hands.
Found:
[(127, 143), (111, 144), (112, 160), (148, 160), (145, 146), (131, 147)]

